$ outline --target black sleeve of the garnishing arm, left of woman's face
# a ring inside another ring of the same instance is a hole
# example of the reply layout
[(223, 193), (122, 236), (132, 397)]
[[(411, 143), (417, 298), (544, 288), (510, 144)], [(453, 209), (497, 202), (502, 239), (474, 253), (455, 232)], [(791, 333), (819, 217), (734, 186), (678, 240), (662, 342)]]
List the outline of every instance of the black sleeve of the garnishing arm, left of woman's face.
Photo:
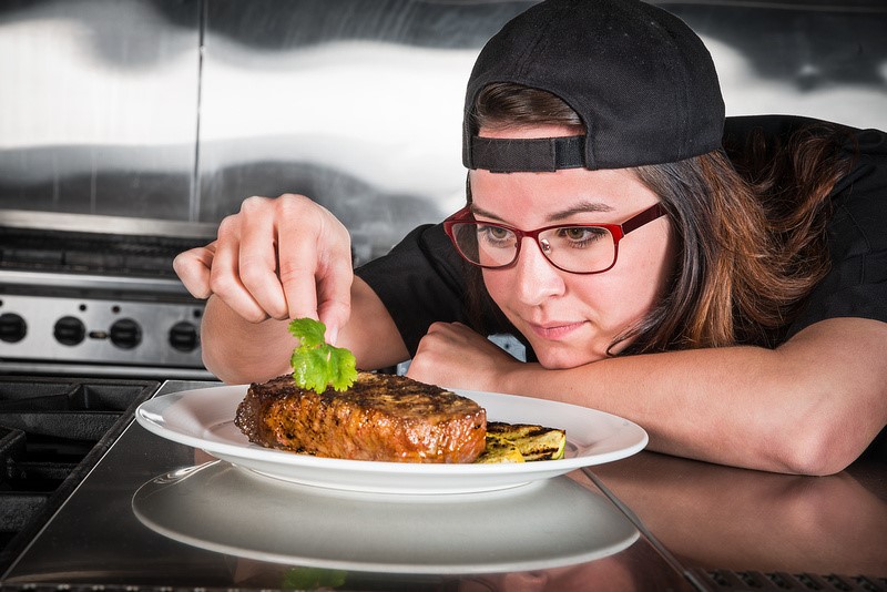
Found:
[(461, 259), (440, 224), (419, 226), (355, 273), (379, 296), (411, 356), (432, 323), (467, 323)]

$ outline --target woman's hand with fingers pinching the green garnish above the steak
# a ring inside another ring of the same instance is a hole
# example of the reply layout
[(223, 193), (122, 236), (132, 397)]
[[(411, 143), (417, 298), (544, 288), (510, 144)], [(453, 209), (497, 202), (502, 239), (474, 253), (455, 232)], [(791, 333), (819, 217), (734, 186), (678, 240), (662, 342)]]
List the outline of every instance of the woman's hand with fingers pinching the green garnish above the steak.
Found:
[(249, 197), (222, 221), (218, 237), (173, 264), (197, 298), (215, 295), (249, 323), (319, 318), (335, 341), (350, 314), (350, 237), (305, 196)]

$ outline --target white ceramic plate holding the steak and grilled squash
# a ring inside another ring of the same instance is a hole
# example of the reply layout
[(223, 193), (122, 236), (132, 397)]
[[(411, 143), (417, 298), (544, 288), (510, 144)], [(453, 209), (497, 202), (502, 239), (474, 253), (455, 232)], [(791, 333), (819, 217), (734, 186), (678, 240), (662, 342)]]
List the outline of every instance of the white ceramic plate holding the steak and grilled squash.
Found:
[(541, 423), (567, 430), (560, 460), (503, 465), (421, 465), (344, 460), (296, 455), (251, 443), (234, 426), (247, 387), (223, 386), (164, 395), (143, 402), (135, 418), (169, 440), (262, 474), (349, 491), (440, 494), (473, 493), (523, 486), (580, 467), (619, 460), (646, 446), (646, 432), (620, 417), (574, 405), (452, 389), (487, 410), (487, 419)]

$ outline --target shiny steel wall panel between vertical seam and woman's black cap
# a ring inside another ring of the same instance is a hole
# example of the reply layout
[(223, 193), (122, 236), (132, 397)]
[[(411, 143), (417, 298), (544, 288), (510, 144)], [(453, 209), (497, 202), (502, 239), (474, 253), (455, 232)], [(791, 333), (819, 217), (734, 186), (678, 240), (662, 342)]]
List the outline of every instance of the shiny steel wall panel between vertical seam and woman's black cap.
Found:
[(201, 218), (304, 193), (349, 227), (360, 261), (458, 210), (465, 82), (483, 42), (531, 4), (208, 2)]

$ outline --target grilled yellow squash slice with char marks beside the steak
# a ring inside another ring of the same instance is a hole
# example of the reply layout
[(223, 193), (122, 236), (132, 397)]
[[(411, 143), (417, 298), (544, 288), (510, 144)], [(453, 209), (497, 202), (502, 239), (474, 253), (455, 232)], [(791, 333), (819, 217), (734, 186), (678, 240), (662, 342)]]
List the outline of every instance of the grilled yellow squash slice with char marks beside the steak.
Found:
[(563, 458), (567, 432), (530, 423), (487, 422), (487, 448), (475, 462), (529, 462)]

